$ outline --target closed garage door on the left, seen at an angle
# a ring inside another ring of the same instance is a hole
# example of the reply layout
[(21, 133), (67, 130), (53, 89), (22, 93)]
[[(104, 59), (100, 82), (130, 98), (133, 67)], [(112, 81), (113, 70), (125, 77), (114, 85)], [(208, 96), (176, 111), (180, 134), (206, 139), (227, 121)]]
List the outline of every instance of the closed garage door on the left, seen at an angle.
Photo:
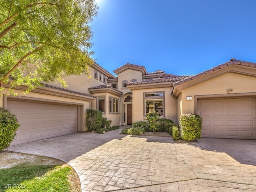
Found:
[(77, 107), (25, 101), (7, 101), (20, 127), (11, 145), (77, 132)]

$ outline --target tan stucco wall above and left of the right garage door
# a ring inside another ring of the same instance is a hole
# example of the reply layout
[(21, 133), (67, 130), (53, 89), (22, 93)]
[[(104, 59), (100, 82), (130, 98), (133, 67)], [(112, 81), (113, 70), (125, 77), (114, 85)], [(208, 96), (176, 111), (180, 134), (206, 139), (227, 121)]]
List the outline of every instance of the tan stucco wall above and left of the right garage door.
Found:
[[(227, 94), (227, 90), (232, 90), (231, 94), (256, 92), (256, 78), (241, 74), (227, 73), (212, 78), (205, 82), (196, 84), (182, 90), (181, 114), (194, 113), (194, 96), (211, 96), (217, 94)], [(192, 96), (192, 100), (186, 100), (187, 96)], [(179, 104), (178, 104), (179, 105)]]

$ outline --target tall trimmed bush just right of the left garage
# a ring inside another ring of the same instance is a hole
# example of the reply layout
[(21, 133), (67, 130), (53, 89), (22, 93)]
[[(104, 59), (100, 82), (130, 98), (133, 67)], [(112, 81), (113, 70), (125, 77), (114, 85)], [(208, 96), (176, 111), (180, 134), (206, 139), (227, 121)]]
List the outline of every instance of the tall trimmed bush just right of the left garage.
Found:
[(96, 131), (102, 126), (102, 112), (95, 109), (86, 110), (86, 126), (89, 131)]

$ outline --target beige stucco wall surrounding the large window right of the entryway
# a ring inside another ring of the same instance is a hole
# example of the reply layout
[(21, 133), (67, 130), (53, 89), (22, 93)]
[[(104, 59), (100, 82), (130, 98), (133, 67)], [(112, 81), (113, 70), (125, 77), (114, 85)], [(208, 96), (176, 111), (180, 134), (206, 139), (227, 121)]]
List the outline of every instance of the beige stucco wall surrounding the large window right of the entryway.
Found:
[(177, 99), (171, 95), (171, 87), (138, 89), (132, 91), (132, 122), (146, 120), (144, 117), (144, 93), (164, 91), (165, 118), (177, 123)]

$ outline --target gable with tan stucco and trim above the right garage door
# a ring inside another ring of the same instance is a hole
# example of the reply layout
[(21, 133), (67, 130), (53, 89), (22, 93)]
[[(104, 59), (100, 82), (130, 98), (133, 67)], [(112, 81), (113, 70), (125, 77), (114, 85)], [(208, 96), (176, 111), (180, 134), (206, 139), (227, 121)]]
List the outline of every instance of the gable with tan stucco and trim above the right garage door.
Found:
[(227, 89), (232, 89), (232, 93), (252, 92), (252, 83), (255, 81), (255, 67), (230, 65), (203, 76), (198, 74), (194, 79), (192, 77), (184, 82), (174, 83), (172, 95), (177, 98), (183, 90), (188, 88), (192, 88), (194, 92), (200, 92), (198, 89), (203, 89), (204, 92), (209, 90), (212, 94), (226, 94)]

